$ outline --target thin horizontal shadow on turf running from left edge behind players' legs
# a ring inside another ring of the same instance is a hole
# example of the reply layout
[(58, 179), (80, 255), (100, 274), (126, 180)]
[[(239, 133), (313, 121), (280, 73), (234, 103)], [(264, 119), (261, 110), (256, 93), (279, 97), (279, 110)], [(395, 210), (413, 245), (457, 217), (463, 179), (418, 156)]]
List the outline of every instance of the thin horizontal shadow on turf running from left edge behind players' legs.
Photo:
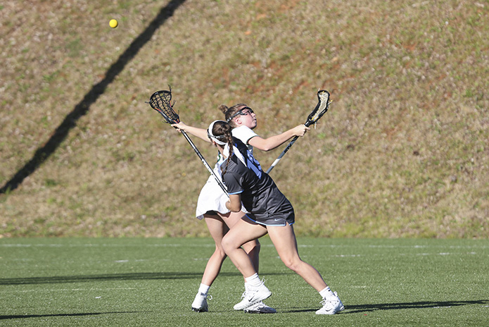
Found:
[[(25, 278), (0, 278), (0, 285), (29, 285), (29, 284), (56, 284), (56, 283), (84, 283), (109, 280), (152, 280), (152, 279), (191, 279), (201, 278), (202, 273), (108, 273), (100, 275), (75, 275), (75, 276), (47, 276)], [(288, 273), (266, 273), (269, 275), (286, 275)], [(221, 272), (220, 277), (241, 276), (238, 271), (229, 273)]]

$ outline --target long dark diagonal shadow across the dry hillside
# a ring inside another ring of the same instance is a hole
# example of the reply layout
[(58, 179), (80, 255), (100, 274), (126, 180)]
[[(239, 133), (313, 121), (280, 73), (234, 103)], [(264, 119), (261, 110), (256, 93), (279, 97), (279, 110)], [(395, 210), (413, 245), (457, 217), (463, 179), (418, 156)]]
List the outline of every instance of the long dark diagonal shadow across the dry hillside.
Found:
[(46, 161), (46, 159), (53, 154), (53, 152), (58, 149), (59, 145), (63, 140), (65, 140), (66, 136), (70, 132), (72, 128), (74, 128), (77, 124), (78, 119), (87, 114), (90, 109), (91, 104), (94, 104), (97, 99), (105, 92), (108, 85), (119, 75), (122, 70), (124, 70), (125, 66), (129, 61), (136, 56), (139, 50), (144, 47), (158, 27), (163, 25), (165, 21), (170, 18), (174, 11), (182, 5), (185, 0), (171, 0), (167, 6), (161, 8), (158, 16), (153, 19), (153, 21), (146, 27), (144, 30), (134, 41), (129, 45), (129, 47), (124, 51), (123, 54), (120, 55), (118, 60), (113, 63), (112, 66), (107, 70), (105, 78), (101, 80), (101, 82), (94, 85), (91, 90), (85, 94), (82, 101), (80, 101), (68, 116), (65, 117), (63, 122), (54, 130), (53, 134), (49, 138), (49, 140), (44, 144), (44, 146), (39, 147), (37, 151), (34, 153), (34, 156), (30, 161), (25, 163), (25, 166), (20, 168), (11, 180), (0, 188), (0, 194), (6, 193), (12, 190), (15, 190), (25, 178), (27, 178), (30, 174), (34, 173), (34, 171), (39, 168), (39, 166)]

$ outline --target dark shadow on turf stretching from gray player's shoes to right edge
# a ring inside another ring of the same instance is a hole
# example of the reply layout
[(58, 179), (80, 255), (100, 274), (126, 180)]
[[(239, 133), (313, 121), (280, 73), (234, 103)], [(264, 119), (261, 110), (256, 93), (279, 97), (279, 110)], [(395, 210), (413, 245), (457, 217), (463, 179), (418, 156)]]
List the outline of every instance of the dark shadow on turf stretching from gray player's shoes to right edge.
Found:
[[(481, 304), (489, 305), (489, 300), (474, 301), (421, 301), (421, 302), (402, 302), (402, 303), (379, 303), (379, 304), (345, 304), (345, 311), (341, 314), (359, 314), (362, 312), (372, 312), (377, 310), (402, 310), (402, 309), (436, 309), (460, 307), (463, 305)], [(317, 309), (286, 309), (281, 312), (306, 312), (316, 311)]]

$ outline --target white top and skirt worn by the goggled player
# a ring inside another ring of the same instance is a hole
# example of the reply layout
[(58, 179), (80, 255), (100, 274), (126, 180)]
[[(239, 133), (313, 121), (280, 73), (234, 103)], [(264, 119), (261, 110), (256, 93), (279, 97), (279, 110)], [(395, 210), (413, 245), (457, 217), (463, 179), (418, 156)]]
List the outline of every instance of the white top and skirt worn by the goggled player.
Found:
[[(248, 141), (252, 137), (258, 136), (257, 133), (253, 132), (253, 130), (246, 126), (233, 128), (231, 133), (234, 137), (246, 144), (248, 150), (251, 152), (251, 154), (253, 154), (253, 147), (248, 144)], [(220, 164), (223, 161), (224, 157), (220, 153), (217, 154), (217, 162), (213, 170), (218, 178), (221, 177)], [(198, 195), (196, 217), (198, 219), (202, 219), (204, 218), (203, 215), (208, 211), (217, 211), (221, 214), (227, 214), (229, 212), (229, 209), (227, 209), (226, 207), (226, 202), (228, 199), (229, 198), (227, 197), (227, 195), (222, 191), (219, 184), (217, 184), (217, 182), (215, 181), (214, 176), (210, 175), (207, 183), (205, 183), (205, 185), (202, 187), (201, 194)], [(246, 212), (244, 207), (242, 210)]]

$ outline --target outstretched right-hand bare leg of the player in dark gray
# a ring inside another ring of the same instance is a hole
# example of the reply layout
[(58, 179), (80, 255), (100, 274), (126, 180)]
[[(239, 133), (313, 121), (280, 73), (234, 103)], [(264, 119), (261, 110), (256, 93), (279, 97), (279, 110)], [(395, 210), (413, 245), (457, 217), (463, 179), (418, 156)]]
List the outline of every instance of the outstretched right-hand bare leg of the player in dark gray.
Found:
[(280, 259), (289, 269), (298, 273), (317, 292), (326, 288), (321, 274), (313, 266), (300, 259), (296, 234), (292, 226), (288, 224), (286, 226), (267, 226), (267, 230)]

